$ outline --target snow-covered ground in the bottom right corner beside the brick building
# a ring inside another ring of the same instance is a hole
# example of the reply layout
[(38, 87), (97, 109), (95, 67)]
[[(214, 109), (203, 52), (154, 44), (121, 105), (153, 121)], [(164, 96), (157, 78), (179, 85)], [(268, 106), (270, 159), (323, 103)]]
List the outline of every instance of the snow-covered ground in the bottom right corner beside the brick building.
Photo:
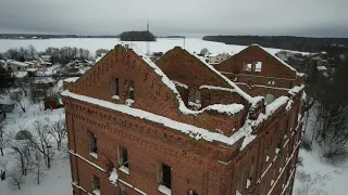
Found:
[[(315, 118), (313, 108), (306, 123), (306, 134), (302, 136), (310, 140)], [(344, 195), (348, 194), (348, 161), (336, 165), (328, 164), (321, 157), (322, 152), (313, 144), (312, 151), (300, 148), (299, 158), (302, 166), (297, 167), (294, 195)]]

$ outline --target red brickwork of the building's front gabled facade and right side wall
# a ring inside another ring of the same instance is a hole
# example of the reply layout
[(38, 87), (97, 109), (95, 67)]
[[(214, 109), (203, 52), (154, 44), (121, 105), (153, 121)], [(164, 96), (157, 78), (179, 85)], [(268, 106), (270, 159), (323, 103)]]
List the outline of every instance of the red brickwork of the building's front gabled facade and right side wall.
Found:
[[(120, 101), (114, 101), (110, 98), (110, 80), (117, 77), (120, 86), (123, 86), (124, 80), (134, 79), (136, 89), (134, 107), (158, 113), (198, 127), (208, 127), (207, 129), (212, 131), (216, 127), (227, 130), (233, 127), (234, 121), (240, 119), (238, 118), (240, 117), (239, 115), (229, 118), (208, 113), (198, 116), (181, 115), (177, 112), (176, 100), (170, 94), (171, 91), (165, 87), (158, 87), (160, 78), (151, 69), (147, 69), (148, 67), (134, 53), (125, 54), (124, 52), (123, 49), (115, 48), (114, 51), (107, 54), (100, 63), (95, 65), (90, 72), (74, 84), (73, 91), (114, 103), (123, 103), (124, 98), (122, 98), (122, 94)], [(89, 82), (90, 80), (92, 82)], [(121, 87), (120, 89), (123, 88)], [(166, 95), (169, 95), (169, 99), (166, 99)], [(152, 99), (153, 96), (157, 98)], [(300, 99), (300, 95), (296, 96), (296, 99)], [(188, 194), (189, 190), (195, 190), (200, 195), (235, 195), (237, 182), (240, 179), (238, 172), (244, 168), (246, 179), (252, 156), (254, 165), (250, 185), (253, 188), (252, 194), (261, 194), (262, 186), (265, 187), (265, 192), (272, 190), (272, 194), (278, 194), (279, 191), (283, 191), (284, 180), (282, 177), (285, 177), (287, 172), (287, 177), (289, 177), (291, 168), (288, 167), (291, 162), (287, 164), (288, 166), (283, 174), (277, 172), (276, 177), (273, 178), (274, 168), (278, 169), (282, 166), (284, 169), (285, 165), (285, 162), (282, 162), (281, 155), (275, 155), (275, 148), (278, 145), (277, 140), (282, 138), (281, 151), (283, 161), (285, 161), (285, 158), (289, 156), (288, 153), (296, 145), (293, 140), (296, 136), (300, 136), (301, 129), (301, 126), (299, 126), (293, 135), (291, 131), (294, 130), (286, 127), (289, 116), (297, 118), (298, 112), (302, 112), (302, 109), (298, 108), (299, 101), (295, 101), (296, 106), (291, 110), (283, 112), (281, 116), (277, 116), (276, 120), (264, 121), (265, 126), (254, 131), (258, 134), (256, 140), (239, 152), (243, 140), (233, 146), (203, 140), (197, 141), (159, 123), (108, 108), (97, 107), (70, 98), (64, 98), (64, 102), (66, 105), (69, 145), (70, 150), (72, 150), (73, 180), (90, 192), (91, 174), (95, 174), (101, 180), (101, 194), (116, 194), (115, 187), (108, 180), (108, 165), (112, 161), (117, 168), (117, 146), (128, 150), (129, 161), (129, 174), (119, 171), (120, 179), (147, 194), (161, 194), (157, 190), (157, 164), (164, 162), (173, 168), (172, 194), (174, 195)], [(153, 105), (153, 102), (157, 104)], [(284, 127), (284, 130), (279, 130), (279, 127)], [(98, 140), (98, 159), (89, 155), (88, 130), (94, 132)], [(228, 134), (228, 131), (224, 131), (224, 133)], [(286, 139), (284, 139), (284, 134), (287, 134)], [(271, 140), (272, 144), (270, 144)], [(270, 159), (264, 162), (268, 145), (270, 145)], [(298, 151), (295, 151), (295, 157), (297, 157), (297, 153)], [(80, 155), (87, 161), (75, 154)], [(275, 160), (273, 161), (273, 159)], [(88, 161), (107, 171), (95, 168)], [(261, 161), (263, 161), (263, 166), (261, 166)], [(268, 166), (271, 167), (264, 172)], [(264, 177), (261, 178), (263, 173)], [(271, 185), (271, 180), (276, 181), (278, 176), (281, 176), (279, 180)], [(260, 182), (258, 182), (259, 179)], [(286, 182), (287, 180), (285, 180)], [(243, 194), (247, 193), (246, 183), (247, 180), (244, 180)], [(121, 184), (121, 187), (127, 194), (137, 194), (133, 188), (124, 184)]]

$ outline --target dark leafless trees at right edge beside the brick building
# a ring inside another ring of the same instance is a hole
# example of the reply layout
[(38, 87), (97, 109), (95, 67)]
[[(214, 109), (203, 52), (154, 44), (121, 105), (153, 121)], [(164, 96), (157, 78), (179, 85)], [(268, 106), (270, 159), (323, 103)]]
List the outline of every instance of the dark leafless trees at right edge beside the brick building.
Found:
[(335, 64), (337, 69), (331, 79), (306, 87), (304, 119), (312, 127), (302, 143), (307, 150), (319, 146), (323, 157), (339, 162), (348, 158), (348, 60)]

